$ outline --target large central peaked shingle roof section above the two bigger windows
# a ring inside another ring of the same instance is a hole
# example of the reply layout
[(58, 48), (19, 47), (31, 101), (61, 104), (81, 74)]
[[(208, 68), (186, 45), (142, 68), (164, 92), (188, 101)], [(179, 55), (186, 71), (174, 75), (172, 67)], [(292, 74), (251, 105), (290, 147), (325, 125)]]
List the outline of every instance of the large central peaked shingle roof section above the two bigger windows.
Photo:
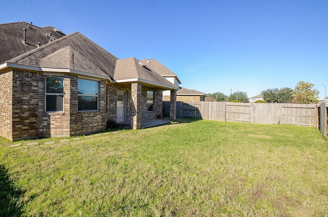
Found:
[(117, 57), (80, 34), (72, 33), (15, 57), (9, 62), (34, 67), (72, 69), (113, 77)]

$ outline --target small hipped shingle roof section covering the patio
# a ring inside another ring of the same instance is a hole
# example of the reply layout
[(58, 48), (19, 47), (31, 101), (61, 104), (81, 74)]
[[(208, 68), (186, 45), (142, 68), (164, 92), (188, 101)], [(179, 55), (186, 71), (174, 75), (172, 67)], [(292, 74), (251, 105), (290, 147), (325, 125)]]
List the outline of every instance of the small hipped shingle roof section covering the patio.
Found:
[(145, 82), (158, 87), (163, 87), (163, 90), (165, 90), (165, 88), (175, 90), (179, 89), (176, 85), (160, 76), (154, 70), (151, 70), (147, 67), (143, 67), (143, 64), (140, 64), (139, 62), (140, 61), (134, 57), (130, 57), (127, 59), (118, 59), (116, 61), (115, 73), (113, 78), (117, 82)]

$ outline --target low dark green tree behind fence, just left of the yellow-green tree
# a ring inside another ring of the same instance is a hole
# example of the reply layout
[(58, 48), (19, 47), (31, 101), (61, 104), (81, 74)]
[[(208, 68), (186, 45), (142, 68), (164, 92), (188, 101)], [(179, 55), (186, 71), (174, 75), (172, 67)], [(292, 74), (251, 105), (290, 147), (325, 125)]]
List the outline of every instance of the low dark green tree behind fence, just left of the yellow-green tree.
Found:
[(262, 91), (263, 99), (268, 103), (291, 103), (292, 89), (290, 88), (274, 88)]

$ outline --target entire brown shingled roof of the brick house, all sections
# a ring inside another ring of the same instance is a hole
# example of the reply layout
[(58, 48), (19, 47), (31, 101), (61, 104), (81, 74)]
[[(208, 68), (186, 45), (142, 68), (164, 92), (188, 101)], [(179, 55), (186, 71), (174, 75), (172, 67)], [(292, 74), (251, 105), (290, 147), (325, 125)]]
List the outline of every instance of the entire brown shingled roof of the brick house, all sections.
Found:
[[(23, 28), (26, 43), (23, 43)], [(178, 90), (154, 70), (142, 67), (136, 58), (119, 60), (79, 32), (65, 35), (53, 27), (38, 28), (25, 22), (1, 24), (0, 30), (2, 69), (74, 73), (111, 82), (139, 81), (162, 90)], [(41, 46), (37, 47), (36, 42)]]

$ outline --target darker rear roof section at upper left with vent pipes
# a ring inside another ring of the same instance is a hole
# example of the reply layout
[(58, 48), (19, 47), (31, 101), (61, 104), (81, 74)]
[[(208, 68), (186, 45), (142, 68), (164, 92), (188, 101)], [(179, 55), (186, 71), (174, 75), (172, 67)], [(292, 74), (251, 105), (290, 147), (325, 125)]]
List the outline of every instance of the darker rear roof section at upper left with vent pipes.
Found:
[[(23, 29), (26, 29), (25, 44)], [(53, 41), (66, 35), (55, 31), (54, 27), (39, 28), (25, 22), (0, 24), (0, 30), (0, 64), (37, 48), (37, 42), (45, 45), (49, 40)]]

